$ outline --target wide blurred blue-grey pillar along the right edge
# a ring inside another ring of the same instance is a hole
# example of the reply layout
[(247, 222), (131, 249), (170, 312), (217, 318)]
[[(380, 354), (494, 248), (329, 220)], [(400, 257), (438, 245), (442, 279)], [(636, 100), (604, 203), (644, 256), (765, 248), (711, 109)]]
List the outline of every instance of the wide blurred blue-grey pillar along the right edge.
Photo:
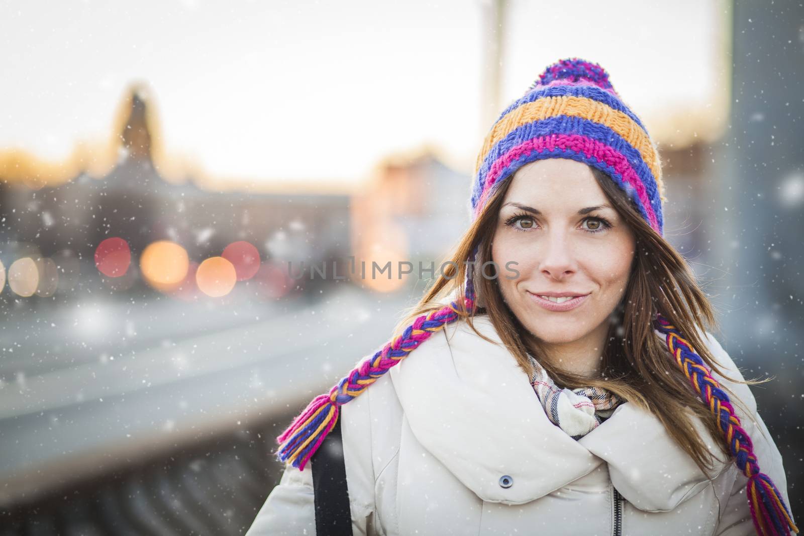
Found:
[(804, 506), (804, 6), (735, 0), (732, 10), (730, 121), (713, 154), (709, 218), (712, 264), (726, 273), (713, 302), (719, 340), (744, 376), (775, 377), (752, 391), (795, 515)]

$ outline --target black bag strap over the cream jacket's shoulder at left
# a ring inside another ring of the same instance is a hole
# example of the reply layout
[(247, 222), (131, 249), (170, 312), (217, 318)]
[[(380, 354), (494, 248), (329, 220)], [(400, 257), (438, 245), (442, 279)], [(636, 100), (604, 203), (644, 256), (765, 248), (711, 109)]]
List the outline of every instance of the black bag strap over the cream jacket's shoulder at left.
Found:
[[(340, 417), (341, 415), (338, 415)], [(343, 461), (341, 419), (310, 458), (315, 493), (315, 534), (352, 536), (347, 467)]]

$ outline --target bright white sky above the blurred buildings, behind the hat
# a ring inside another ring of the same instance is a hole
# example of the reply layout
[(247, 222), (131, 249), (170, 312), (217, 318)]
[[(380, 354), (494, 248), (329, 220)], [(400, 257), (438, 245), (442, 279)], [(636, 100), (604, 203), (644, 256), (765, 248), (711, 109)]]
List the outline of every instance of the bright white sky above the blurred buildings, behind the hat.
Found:
[[(167, 153), (213, 176), (359, 180), (422, 143), (470, 173), (490, 126), (484, 5), (3, 2), (0, 150), (66, 158), (76, 141), (108, 137), (127, 84), (145, 80)], [(512, 0), (499, 109), (549, 63), (580, 56), (609, 71), (649, 129), (666, 129), (724, 94), (723, 5)]]

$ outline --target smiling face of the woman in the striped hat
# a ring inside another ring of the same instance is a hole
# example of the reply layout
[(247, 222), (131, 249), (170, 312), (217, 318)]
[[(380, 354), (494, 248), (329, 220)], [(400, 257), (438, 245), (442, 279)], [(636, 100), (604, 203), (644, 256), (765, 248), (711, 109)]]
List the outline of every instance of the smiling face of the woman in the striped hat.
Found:
[[(633, 232), (584, 163), (537, 160), (511, 181), (491, 248), (503, 298), (543, 342), (599, 344), (626, 291)], [(550, 293), (581, 297), (564, 304), (539, 297)]]

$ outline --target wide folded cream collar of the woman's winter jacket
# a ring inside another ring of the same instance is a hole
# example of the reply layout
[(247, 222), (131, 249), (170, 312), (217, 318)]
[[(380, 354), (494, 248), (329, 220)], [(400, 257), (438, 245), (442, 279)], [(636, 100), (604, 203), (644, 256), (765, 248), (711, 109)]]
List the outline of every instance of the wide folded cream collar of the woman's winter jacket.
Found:
[[(708, 485), (662, 423), (622, 403), (604, 423), (572, 440), (544, 412), (524, 370), (486, 315), (433, 333), (390, 370), (416, 440), (484, 501), (522, 504), (608, 465), (617, 491), (646, 511), (675, 509)], [(712, 436), (692, 415), (712, 452)], [(717, 458), (711, 476), (726, 463)], [(503, 488), (500, 477), (513, 477)]]

